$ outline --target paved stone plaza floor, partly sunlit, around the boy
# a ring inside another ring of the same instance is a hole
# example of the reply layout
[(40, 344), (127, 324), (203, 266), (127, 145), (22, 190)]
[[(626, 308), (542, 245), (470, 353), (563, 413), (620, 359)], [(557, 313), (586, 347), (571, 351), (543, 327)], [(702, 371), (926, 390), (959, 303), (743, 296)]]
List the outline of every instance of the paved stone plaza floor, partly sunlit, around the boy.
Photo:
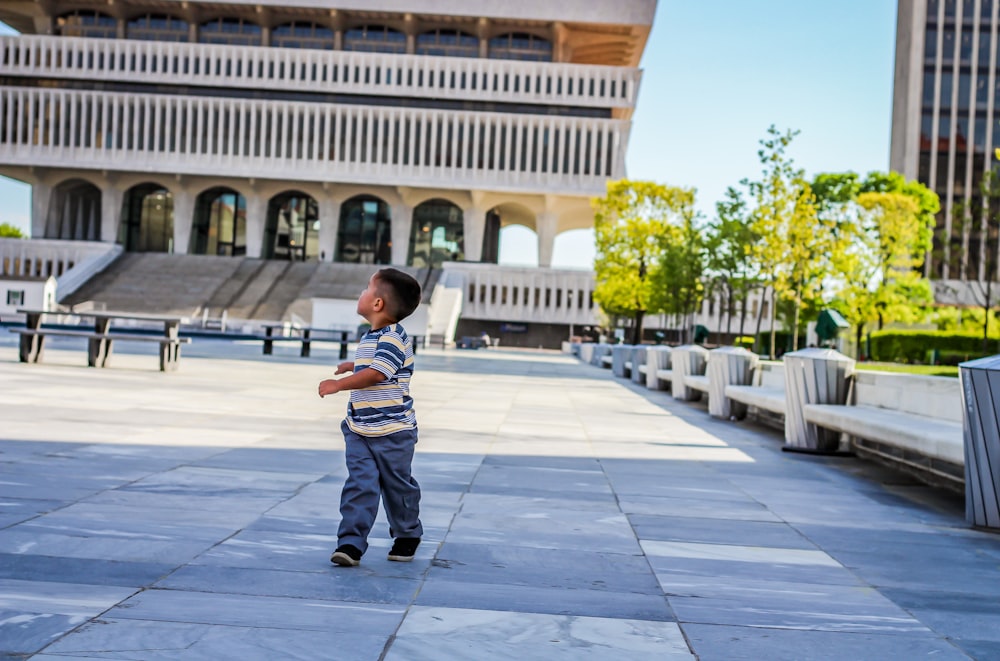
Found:
[(1000, 658), (960, 496), (554, 353), (421, 352), (424, 544), (335, 567), (335, 354), (184, 351), (0, 338), (0, 658)]

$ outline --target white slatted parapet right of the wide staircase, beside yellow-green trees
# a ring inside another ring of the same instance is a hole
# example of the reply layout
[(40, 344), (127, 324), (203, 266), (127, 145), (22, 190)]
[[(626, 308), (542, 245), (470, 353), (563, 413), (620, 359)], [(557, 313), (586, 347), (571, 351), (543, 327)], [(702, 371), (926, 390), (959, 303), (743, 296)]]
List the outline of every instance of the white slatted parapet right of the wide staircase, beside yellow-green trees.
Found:
[(444, 270), (464, 280), (463, 319), (597, 323), (593, 271), (461, 262), (448, 262)]

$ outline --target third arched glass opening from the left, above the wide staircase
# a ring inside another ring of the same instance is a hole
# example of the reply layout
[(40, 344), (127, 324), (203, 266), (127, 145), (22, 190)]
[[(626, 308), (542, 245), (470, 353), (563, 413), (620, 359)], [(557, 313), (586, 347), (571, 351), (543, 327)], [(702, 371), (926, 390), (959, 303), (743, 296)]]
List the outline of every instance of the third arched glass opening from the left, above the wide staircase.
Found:
[(231, 188), (210, 188), (195, 201), (193, 255), (235, 257), (247, 252), (247, 200)]

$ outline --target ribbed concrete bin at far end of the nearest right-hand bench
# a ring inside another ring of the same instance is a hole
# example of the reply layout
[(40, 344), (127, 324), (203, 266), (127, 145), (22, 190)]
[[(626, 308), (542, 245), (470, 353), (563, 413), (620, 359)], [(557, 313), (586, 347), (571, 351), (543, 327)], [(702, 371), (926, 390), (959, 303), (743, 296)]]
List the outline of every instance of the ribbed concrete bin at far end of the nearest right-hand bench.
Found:
[[(786, 353), (785, 446), (789, 452), (841, 454), (840, 432), (806, 422), (806, 404), (846, 404), (854, 359), (833, 349)], [(845, 453), (850, 454), (850, 453)]]

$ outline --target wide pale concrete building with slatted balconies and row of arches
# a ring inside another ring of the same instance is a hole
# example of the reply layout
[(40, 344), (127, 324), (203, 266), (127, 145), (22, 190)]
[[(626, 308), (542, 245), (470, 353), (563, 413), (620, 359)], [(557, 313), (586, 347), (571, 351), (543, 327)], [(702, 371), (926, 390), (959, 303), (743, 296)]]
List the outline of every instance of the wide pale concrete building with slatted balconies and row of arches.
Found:
[[(5, 2), (22, 34), (0, 39), (0, 174), (32, 185), (35, 239), (449, 265), (463, 318), (587, 323), (592, 284), (547, 267), (625, 174), (655, 9)], [(495, 265), (513, 224), (539, 269)]]

